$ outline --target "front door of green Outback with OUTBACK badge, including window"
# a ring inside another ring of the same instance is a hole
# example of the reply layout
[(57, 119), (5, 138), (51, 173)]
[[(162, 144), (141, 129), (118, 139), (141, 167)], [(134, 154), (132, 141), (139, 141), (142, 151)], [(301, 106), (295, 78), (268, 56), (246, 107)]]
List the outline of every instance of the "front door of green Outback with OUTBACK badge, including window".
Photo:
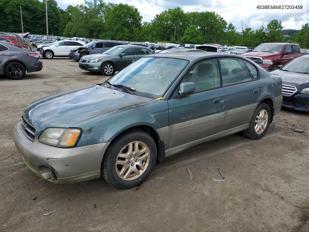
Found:
[(225, 94), (217, 60), (197, 62), (182, 79), (184, 82), (193, 82), (195, 92), (186, 97), (176, 94), (168, 100), (169, 148), (225, 130)]

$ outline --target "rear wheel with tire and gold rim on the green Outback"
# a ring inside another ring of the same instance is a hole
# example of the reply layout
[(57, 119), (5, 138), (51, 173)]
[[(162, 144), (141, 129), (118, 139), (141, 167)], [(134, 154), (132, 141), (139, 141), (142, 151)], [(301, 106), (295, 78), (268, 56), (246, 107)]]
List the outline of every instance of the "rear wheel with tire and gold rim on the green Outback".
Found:
[(243, 135), (252, 140), (263, 138), (269, 128), (271, 111), (269, 105), (264, 102), (256, 107), (250, 121), (249, 129), (243, 131)]

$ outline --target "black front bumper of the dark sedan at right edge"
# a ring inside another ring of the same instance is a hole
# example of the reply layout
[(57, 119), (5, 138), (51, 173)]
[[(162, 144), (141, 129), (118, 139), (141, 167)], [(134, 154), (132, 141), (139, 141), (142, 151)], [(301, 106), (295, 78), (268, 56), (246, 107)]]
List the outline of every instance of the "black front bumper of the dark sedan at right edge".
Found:
[(309, 112), (309, 93), (296, 93), (292, 97), (283, 96), (282, 107)]

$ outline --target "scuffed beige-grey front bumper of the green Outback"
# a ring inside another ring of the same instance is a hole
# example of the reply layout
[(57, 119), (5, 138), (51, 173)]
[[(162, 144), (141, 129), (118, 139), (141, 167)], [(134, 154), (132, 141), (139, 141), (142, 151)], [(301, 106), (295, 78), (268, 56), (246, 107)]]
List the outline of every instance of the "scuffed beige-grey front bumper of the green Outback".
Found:
[(109, 143), (75, 148), (56, 148), (29, 140), (20, 128), (14, 127), (14, 142), (23, 162), (37, 176), (54, 183), (77, 183), (101, 175), (103, 154)]

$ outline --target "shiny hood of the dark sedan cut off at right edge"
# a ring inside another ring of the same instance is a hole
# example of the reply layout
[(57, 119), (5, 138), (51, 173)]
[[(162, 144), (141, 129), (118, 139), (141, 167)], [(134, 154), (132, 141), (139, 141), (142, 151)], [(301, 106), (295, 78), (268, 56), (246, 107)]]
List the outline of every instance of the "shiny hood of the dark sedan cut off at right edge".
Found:
[(281, 76), (282, 82), (294, 84), (294, 85), (303, 85), (309, 87), (309, 75), (296, 72), (287, 72), (282, 70), (275, 70), (270, 72), (271, 74), (277, 74)]

